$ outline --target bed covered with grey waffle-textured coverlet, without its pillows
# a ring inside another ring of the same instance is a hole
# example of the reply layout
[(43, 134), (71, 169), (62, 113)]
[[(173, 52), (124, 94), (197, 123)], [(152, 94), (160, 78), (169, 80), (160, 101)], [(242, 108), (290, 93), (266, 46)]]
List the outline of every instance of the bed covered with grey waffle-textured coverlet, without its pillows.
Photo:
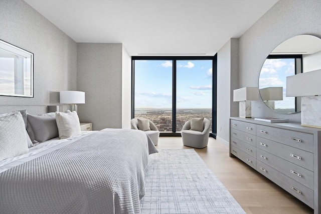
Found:
[(131, 129), (48, 139), (0, 161), (0, 213), (140, 213), (155, 152), (143, 131)]

